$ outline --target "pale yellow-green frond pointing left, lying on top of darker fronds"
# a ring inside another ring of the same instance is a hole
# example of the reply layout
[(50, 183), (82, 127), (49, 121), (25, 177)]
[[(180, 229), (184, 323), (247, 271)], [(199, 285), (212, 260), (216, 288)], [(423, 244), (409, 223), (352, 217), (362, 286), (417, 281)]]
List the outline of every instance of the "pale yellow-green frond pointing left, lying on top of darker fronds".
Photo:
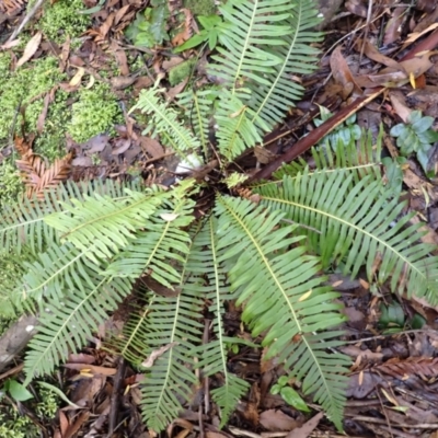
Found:
[(165, 193), (152, 191), (125, 191), (127, 196), (122, 199), (99, 194), (85, 196), (84, 201), (71, 198), (61, 204), (64, 211), (49, 215), (44, 221), (61, 234), (61, 242), (88, 250), (94, 262), (111, 258), (135, 239), (132, 232), (145, 226), (165, 197)]

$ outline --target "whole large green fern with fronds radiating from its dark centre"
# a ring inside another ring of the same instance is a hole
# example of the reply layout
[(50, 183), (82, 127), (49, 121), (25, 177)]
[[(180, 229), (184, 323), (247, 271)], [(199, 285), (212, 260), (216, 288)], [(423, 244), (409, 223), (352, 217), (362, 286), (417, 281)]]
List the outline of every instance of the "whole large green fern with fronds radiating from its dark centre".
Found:
[[(299, 99), (291, 77), (314, 69), (310, 45), (320, 35), (308, 0), (228, 0), (219, 12), (209, 73), (222, 84), (182, 93), (174, 107), (157, 84), (131, 111), (143, 112), (148, 132), (182, 159), (215, 157), (226, 182), (235, 157)], [(135, 293), (136, 310), (106, 348), (143, 372), (149, 427), (162, 430), (178, 415), (198, 376), (219, 382), (210, 395), (224, 426), (249, 390), (227, 364), (230, 345), (249, 343), (224, 327), (235, 300), (250, 344), (261, 342), (266, 357), (277, 357), (341, 430), (349, 360), (336, 347), (345, 316), (323, 272), (354, 276), (365, 266), (370, 281), (437, 303), (438, 260), (410, 217), (400, 218), (399, 192), (382, 177), (380, 138), (373, 145), (364, 132), (359, 145), (339, 141), (313, 155), (315, 169), (301, 160), (251, 187), (255, 201), (188, 178), (170, 189), (68, 183), (43, 201), (4, 208), (2, 263), (20, 261), (4, 273), (4, 309), (39, 316), (26, 382), (83, 347)], [(215, 199), (210, 207), (199, 207), (200, 192)]]

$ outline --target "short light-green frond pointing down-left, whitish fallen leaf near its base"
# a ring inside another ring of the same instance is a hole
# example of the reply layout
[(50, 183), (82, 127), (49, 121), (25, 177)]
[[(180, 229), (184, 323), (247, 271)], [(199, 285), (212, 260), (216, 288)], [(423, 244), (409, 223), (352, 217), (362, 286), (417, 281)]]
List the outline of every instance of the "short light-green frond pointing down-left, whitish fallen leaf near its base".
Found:
[(171, 289), (172, 283), (181, 281), (176, 268), (181, 268), (189, 251), (191, 239), (184, 228), (194, 219), (195, 203), (181, 187), (172, 191), (171, 195), (175, 198), (164, 200), (163, 208), (145, 222), (145, 231), (137, 232), (135, 241), (116, 256), (106, 269), (107, 275), (135, 280), (147, 273)]

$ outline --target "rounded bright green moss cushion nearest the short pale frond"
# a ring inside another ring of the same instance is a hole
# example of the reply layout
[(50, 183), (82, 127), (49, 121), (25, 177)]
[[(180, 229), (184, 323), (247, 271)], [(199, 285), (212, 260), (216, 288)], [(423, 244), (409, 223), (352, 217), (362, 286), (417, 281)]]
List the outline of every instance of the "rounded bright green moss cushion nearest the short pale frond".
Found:
[(73, 140), (82, 142), (97, 134), (112, 132), (114, 124), (123, 120), (116, 96), (108, 85), (97, 83), (90, 90), (82, 90), (79, 97), (72, 105), (71, 122), (67, 126)]

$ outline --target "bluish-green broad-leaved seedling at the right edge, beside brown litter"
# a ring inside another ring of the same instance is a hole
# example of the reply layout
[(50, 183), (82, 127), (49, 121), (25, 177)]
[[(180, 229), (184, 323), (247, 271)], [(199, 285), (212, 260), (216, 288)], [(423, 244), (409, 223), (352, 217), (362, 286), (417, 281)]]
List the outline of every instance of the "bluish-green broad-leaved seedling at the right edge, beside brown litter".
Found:
[(403, 157), (416, 153), (417, 160), (426, 173), (431, 177), (435, 172), (429, 169), (428, 151), (433, 143), (438, 141), (438, 132), (430, 129), (434, 124), (434, 117), (423, 117), (420, 111), (413, 111), (408, 117), (407, 124), (399, 124), (391, 128), (390, 135), (396, 138), (396, 145)]

